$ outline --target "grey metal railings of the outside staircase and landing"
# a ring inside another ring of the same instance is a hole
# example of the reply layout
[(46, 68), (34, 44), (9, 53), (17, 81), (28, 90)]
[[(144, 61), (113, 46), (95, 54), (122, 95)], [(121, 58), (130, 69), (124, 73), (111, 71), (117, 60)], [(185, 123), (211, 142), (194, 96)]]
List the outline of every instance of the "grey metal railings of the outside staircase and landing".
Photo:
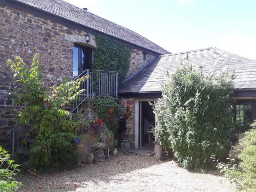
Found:
[(89, 76), (82, 81), (79, 90), (86, 90), (79, 94), (68, 106), (68, 111), (75, 112), (79, 110), (79, 106), (88, 98), (115, 97), (118, 92), (118, 72), (116, 71), (100, 71), (89, 70), (83, 71), (73, 81), (83, 76)]

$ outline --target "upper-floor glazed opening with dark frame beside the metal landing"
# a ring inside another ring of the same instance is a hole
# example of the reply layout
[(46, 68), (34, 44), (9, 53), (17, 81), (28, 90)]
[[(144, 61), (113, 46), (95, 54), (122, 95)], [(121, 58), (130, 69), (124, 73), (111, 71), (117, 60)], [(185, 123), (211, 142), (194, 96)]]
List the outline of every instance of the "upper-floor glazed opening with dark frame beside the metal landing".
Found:
[(92, 49), (89, 47), (74, 46), (73, 50), (73, 77), (92, 67)]

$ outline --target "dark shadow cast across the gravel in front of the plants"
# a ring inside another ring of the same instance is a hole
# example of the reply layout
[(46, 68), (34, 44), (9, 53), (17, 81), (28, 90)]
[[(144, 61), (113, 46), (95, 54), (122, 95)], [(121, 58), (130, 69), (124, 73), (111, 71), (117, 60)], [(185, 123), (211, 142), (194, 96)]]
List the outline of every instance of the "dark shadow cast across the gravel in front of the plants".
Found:
[[(139, 156), (121, 152), (116, 158), (111, 157), (105, 162), (82, 165), (73, 170), (56, 172), (54, 175), (18, 175), (17, 180), (22, 181), (24, 185), (18, 191), (29, 192), (37, 191), (38, 189), (41, 189), (41, 191), (75, 191), (78, 187), (84, 188), (84, 191), (86, 191), (87, 183), (122, 183), (133, 181), (131, 172), (134, 170), (165, 162), (157, 160), (155, 156)], [(126, 173), (130, 173), (130, 176), (125, 179), (115, 177), (116, 175)], [(154, 176), (154, 174), (151, 176)], [(141, 174), (141, 177), (145, 176)]]

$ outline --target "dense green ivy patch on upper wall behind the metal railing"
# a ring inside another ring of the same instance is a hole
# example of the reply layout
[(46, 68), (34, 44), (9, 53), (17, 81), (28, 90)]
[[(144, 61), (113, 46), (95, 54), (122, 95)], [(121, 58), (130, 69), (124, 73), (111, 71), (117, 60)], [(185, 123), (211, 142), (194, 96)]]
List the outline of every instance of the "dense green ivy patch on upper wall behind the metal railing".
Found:
[(93, 69), (117, 71), (120, 84), (130, 66), (131, 49), (123, 42), (106, 35), (97, 34), (96, 40)]

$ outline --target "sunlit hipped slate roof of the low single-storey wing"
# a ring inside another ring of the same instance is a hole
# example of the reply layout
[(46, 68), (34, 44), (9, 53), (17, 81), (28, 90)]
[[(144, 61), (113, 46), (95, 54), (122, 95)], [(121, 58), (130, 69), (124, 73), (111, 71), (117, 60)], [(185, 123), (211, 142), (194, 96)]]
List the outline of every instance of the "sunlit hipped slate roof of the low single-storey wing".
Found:
[(241, 57), (218, 48), (206, 48), (161, 55), (136, 74), (126, 79), (121, 84), (118, 92), (160, 92), (161, 82), (166, 82), (167, 71), (169, 74), (172, 74), (181, 65), (186, 54), (188, 54), (188, 62), (193, 65), (193, 69), (198, 69), (199, 66), (202, 66), (202, 72), (205, 75), (211, 74), (214, 63), (218, 59), (215, 66), (217, 74), (223, 73), (225, 66), (226, 69), (229, 69), (230, 74), (232, 74), (235, 68), (234, 73), (237, 77), (234, 79), (234, 84), (237, 89), (256, 88), (256, 60)]

